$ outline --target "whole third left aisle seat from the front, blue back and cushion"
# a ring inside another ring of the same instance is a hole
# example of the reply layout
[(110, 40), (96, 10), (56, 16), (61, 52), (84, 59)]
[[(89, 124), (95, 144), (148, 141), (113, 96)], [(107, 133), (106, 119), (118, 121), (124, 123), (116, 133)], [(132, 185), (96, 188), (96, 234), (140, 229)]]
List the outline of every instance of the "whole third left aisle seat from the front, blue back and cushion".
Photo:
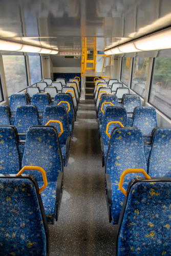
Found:
[[(47, 106), (44, 113), (43, 125), (47, 124), (49, 120), (58, 120), (62, 123), (63, 133), (59, 136), (59, 142), (62, 151), (63, 165), (67, 166), (70, 153), (71, 138), (70, 127), (65, 106)], [(58, 134), (61, 132), (59, 123), (52, 122), (49, 125), (54, 125), (57, 129)]]

